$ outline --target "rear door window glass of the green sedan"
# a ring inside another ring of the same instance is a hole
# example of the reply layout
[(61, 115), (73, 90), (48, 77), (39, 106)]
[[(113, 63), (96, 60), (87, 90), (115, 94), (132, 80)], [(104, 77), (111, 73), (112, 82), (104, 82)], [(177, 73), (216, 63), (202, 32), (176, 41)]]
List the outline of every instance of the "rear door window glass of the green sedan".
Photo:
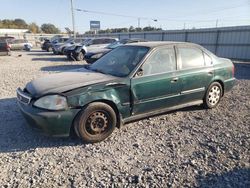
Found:
[(198, 48), (179, 47), (180, 68), (196, 68), (204, 66), (203, 53)]

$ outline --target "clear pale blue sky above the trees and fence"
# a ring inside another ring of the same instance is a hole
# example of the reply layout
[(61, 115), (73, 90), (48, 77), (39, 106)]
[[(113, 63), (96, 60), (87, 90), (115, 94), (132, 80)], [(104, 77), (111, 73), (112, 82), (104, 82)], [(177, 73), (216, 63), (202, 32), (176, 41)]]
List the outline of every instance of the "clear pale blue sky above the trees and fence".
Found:
[[(250, 25), (250, 0), (73, 0), (76, 30), (89, 30), (90, 20), (101, 29), (140, 26), (183, 29)], [(112, 15), (107, 15), (112, 14)], [(121, 16), (115, 16), (121, 15)], [(53, 23), (62, 31), (72, 28), (70, 0), (0, 0), (0, 19)], [(157, 20), (157, 21), (154, 21)]]

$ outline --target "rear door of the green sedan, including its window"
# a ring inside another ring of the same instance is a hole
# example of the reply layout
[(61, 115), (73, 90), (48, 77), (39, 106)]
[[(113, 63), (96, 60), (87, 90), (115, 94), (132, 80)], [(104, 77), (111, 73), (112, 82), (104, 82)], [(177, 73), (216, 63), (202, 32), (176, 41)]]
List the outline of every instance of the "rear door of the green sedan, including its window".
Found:
[(179, 45), (177, 54), (181, 102), (202, 100), (214, 75), (211, 58), (196, 46)]

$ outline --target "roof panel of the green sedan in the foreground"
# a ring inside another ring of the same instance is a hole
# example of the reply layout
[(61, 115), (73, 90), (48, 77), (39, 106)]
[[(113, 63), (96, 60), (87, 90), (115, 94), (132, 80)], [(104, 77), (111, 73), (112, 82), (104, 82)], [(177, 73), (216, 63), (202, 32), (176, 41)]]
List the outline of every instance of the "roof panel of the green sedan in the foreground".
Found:
[(175, 44), (184, 44), (184, 45), (192, 45), (195, 46), (193, 43), (189, 42), (176, 42), (176, 41), (149, 41), (149, 42), (138, 42), (138, 43), (129, 43), (125, 44), (126, 46), (143, 46), (149, 48), (155, 48), (164, 45), (175, 45)]

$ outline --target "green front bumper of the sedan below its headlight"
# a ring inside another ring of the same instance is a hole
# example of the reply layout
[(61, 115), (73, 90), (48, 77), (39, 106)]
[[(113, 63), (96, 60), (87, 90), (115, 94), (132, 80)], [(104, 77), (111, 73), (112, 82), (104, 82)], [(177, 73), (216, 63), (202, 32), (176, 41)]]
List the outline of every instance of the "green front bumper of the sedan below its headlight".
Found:
[(28, 125), (49, 136), (67, 137), (79, 109), (46, 111), (18, 101), (19, 108)]

